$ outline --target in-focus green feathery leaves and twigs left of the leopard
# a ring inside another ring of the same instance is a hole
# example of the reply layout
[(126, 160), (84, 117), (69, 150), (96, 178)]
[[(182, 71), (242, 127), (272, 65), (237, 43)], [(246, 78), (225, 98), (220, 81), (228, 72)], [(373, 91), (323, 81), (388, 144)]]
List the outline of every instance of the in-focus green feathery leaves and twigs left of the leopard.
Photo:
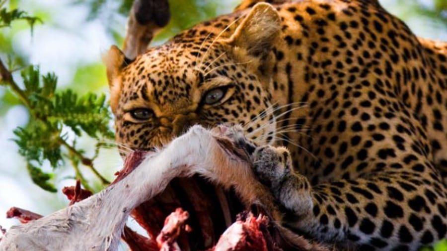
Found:
[[(10, 26), (19, 19), (26, 19), (32, 27), (39, 20), (18, 9), (8, 11), (2, 7), (3, 4), (4, 1), (0, 2), (0, 24), (5, 24), (3, 27)], [(114, 138), (108, 126), (111, 114), (105, 95), (87, 93), (78, 97), (70, 89), (57, 91), (56, 75), (41, 75), (39, 67), (34, 65), (21, 71), (21, 88), (12, 76), (11, 57), (8, 57), (8, 62), (9, 69), (0, 60), (0, 84), (9, 87), (29, 112), (31, 119), (28, 123), (14, 130), (14, 142), (19, 146), (19, 153), (26, 159), (33, 182), (47, 191), (56, 192), (51, 183), (52, 174), (43, 172), (39, 166), (48, 161), (53, 168), (58, 168), (66, 160), (70, 160), (76, 178), (87, 189), (90, 187), (78, 168), (79, 163), (89, 167), (103, 184), (108, 184), (93, 167), (96, 154), (91, 159), (84, 157), (84, 151), (76, 149), (76, 141), (70, 143), (67, 134), (67, 129), (70, 129), (76, 137), (85, 133), (92, 138)]]

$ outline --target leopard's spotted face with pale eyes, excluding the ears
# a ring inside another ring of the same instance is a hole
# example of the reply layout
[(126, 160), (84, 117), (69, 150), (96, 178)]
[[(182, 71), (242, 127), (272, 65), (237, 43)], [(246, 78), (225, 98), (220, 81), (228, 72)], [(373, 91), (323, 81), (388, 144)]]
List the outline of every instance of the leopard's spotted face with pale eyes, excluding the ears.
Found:
[[(268, 124), (253, 137), (269, 134), (275, 128), (273, 115), (265, 113), (272, 108), (271, 97), (256, 74), (237, 69), (238, 63), (225, 53), (228, 47), (215, 43), (212, 51), (198, 52), (193, 43), (164, 46), (125, 67), (114, 109), (118, 142), (139, 149), (159, 147), (194, 124), (241, 124), (249, 133)], [(202, 62), (215, 58), (213, 64)]]

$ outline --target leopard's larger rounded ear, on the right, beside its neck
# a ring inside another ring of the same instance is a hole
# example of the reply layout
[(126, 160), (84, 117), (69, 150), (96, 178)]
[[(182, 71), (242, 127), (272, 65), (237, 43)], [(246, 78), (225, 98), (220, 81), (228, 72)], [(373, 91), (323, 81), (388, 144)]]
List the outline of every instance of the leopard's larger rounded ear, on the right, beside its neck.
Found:
[(228, 43), (241, 48), (252, 56), (264, 56), (281, 30), (280, 17), (276, 9), (265, 2), (257, 3), (236, 28)]

